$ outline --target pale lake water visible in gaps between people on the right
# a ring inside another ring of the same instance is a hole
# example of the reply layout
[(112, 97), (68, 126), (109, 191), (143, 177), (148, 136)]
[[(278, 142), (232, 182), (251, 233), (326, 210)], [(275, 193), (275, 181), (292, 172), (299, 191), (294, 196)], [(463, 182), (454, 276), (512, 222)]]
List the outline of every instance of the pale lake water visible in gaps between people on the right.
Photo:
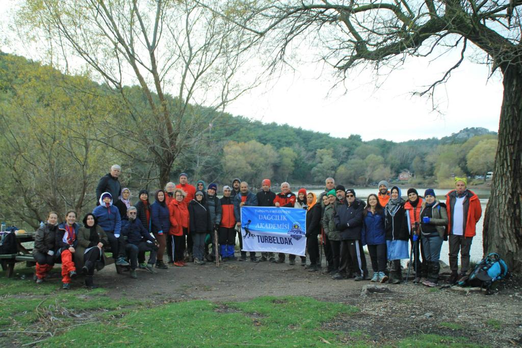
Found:
[[(357, 195), (357, 198), (363, 201), (366, 201), (366, 198), (370, 193), (377, 193), (377, 188), (355, 188), (355, 195)], [(402, 190), (402, 198), (407, 200), (406, 191), (407, 189), (401, 189)], [(424, 191), (426, 189), (417, 189), (420, 195), (424, 194)], [(451, 189), (435, 189), (435, 195), (437, 196), (437, 199), (440, 201), (445, 201), (445, 195), (448, 193)], [(320, 194), (323, 192), (323, 190), (311, 190), (315, 194)], [(480, 261), (482, 259), (482, 224), (484, 222), (484, 213), (486, 210), (486, 204), (488, 204), (490, 191), (489, 190), (472, 190), (474, 193), (476, 193), (480, 198), (480, 205), (482, 206), (482, 216), (480, 217), (479, 222), (477, 223), (477, 235), (473, 237), (473, 243), (471, 244), (471, 251), (470, 251), (470, 258), (472, 261)], [(366, 249), (366, 247), (364, 247)], [(445, 241), (442, 244), (441, 249), (441, 260), (444, 261), (446, 264), (449, 262), (448, 257), (448, 242)], [(460, 264), (460, 258), (459, 258), (459, 264)]]

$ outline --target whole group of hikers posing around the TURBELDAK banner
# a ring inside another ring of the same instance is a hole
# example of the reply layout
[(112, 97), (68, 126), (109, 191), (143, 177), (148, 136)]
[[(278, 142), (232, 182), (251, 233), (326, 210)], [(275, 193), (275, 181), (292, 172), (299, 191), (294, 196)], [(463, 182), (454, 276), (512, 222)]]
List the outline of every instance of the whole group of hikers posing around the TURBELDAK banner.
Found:
[[(207, 261), (237, 260), (236, 237), (241, 249), (240, 261), (247, 260), (243, 251), (241, 228), (242, 206), (292, 207), (306, 210), (306, 249), (310, 264), (301, 256), (301, 265), (309, 271), (321, 270), (319, 248), (323, 248), (327, 269), (333, 279), (368, 279), (363, 246), (370, 254), (373, 282), (398, 284), (402, 281), (401, 260), (412, 258), (414, 282), (435, 286), (440, 271), (442, 243), (449, 239), (450, 282), (455, 283), (469, 270), (469, 251), (475, 226), (482, 214), (476, 194), (467, 189), (466, 178), (455, 178), (455, 190), (446, 194), (445, 203), (436, 199), (433, 189), (420, 196), (416, 189), (401, 198), (401, 190), (381, 181), (378, 192), (366, 202), (358, 199), (353, 189), (336, 185), (333, 178), (325, 181), (325, 190), (318, 197), (302, 188), (291, 192), (283, 182), (281, 191), (271, 191), (269, 179), (261, 190), (251, 192), (248, 183), (236, 178), (232, 186), (224, 185), (218, 198), (217, 184), (206, 187), (188, 183), (181, 173), (179, 183), (167, 183), (154, 193), (141, 190), (131, 203), (131, 191), (122, 188), (118, 177), (121, 167), (114, 165), (102, 177), (96, 189), (98, 205), (84, 216), (83, 225), (76, 222), (76, 212), (68, 211), (58, 225), (58, 214), (50, 212), (35, 236), (33, 255), (37, 260), (35, 280), (43, 282), (58, 260), (62, 263), (63, 288), (70, 288), (70, 279), (77, 270), (85, 274), (85, 285), (96, 287), (94, 269), (106, 263), (104, 250), (110, 246), (116, 265), (128, 266), (131, 277), (136, 269), (157, 273), (169, 265), (183, 267)], [(411, 246), (411, 247), (410, 247)], [(167, 262), (164, 253), (167, 251)], [(149, 259), (146, 260), (146, 252)], [(461, 267), (458, 271), (458, 254)], [(250, 252), (252, 262), (285, 262), (285, 254)], [(295, 264), (295, 255), (288, 256)]]

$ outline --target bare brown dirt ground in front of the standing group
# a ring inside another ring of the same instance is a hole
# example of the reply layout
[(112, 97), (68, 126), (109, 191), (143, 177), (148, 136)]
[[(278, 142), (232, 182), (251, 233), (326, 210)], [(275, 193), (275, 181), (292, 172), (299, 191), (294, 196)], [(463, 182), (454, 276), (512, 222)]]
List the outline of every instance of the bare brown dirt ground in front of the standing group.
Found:
[[(288, 261), (287, 261), (288, 262)], [(258, 296), (313, 296), (356, 306), (355, 316), (337, 318), (326, 328), (357, 331), (377, 345), (390, 344), (414, 333), (466, 337), (491, 346), (522, 346), (522, 287), (516, 277), (486, 296), (454, 289), (428, 288), (411, 282), (383, 286), (389, 292), (361, 296), (369, 281), (333, 280), (307, 272), (302, 266), (270, 262), (234, 261), (219, 268), (207, 263), (184, 268), (117, 275), (110, 265), (97, 276), (99, 285), (112, 288), (113, 297), (243, 301)], [(349, 335), (347, 335), (349, 337)], [(349, 343), (349, 342), (347, 342)]]

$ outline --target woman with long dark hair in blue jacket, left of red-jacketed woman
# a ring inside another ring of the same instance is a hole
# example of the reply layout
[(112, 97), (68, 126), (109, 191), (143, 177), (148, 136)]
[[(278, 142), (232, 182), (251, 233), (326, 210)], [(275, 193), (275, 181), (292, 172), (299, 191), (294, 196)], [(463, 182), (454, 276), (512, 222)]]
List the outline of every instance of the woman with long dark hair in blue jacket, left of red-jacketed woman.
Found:
[(163, 253), (167, 245), (165, 234), (169, 233), (170, 229), (170, 213), (169, 207), (165, 203), (165, 192), (163, 190), (156, 191), (154, 198), (156, 201), (150, 206), (150, 229), (159, 243), (156, 268), (166, 270), (169, 267), (163, 262)]

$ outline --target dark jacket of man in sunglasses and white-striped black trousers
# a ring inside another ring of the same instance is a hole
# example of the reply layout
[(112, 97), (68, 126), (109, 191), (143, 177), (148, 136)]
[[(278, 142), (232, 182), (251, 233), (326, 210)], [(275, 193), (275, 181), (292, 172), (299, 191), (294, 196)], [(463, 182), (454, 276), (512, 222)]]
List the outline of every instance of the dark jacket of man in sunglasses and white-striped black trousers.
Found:
[(361, 239), (365, 206), (363, 201), (356, 199), (350, 206), (339, 204), (335, 207), (335, 228), (339, 231), (341, 240)]

